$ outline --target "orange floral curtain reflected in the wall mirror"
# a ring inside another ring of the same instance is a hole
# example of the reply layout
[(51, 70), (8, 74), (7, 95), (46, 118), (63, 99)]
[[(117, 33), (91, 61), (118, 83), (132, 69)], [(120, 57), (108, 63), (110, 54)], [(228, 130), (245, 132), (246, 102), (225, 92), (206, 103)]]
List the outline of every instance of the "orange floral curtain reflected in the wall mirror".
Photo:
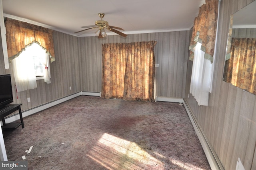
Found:
[(224, 79), (256, 94), (256, 38), (232, 38), (230, 59), (226, 60)]

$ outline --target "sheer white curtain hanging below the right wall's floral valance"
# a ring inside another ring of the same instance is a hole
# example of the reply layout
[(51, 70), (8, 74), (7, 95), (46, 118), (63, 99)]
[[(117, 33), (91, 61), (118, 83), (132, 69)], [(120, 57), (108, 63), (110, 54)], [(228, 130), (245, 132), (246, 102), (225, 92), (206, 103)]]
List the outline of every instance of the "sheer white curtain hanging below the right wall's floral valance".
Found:
[(201, 50), (201, 45), (197, 42), (194, 49), (190, 93), (194, 96), (199, 106), (208, 106), (212, 64), (210, 60), (204, 58), (205, 52)]

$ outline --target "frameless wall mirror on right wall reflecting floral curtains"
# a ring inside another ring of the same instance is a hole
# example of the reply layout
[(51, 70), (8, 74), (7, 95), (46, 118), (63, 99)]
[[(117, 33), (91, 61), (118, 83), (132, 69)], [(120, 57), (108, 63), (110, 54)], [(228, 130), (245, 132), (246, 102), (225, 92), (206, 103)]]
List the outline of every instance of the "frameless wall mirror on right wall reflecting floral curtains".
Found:
[(230, 16), (223, 80), (256, 94), (256, 0)]

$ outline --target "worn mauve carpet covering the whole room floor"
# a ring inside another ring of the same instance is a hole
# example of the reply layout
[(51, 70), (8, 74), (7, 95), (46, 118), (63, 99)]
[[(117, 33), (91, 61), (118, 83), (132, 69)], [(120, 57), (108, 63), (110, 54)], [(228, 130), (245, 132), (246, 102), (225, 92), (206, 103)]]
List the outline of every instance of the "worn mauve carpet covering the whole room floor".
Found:
[(78, 96), (24, 125), (4, 141), (8, 160), (26, 156), (29, 170), (210, 170), (179, 103)]

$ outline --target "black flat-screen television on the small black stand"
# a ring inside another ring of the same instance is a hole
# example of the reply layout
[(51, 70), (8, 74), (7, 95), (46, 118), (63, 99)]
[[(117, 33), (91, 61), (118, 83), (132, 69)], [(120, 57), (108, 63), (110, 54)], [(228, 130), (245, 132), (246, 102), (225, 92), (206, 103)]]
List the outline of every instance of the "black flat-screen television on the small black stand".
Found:
[(0, 110), (13, 102), (11, 75), (0, 75)]

